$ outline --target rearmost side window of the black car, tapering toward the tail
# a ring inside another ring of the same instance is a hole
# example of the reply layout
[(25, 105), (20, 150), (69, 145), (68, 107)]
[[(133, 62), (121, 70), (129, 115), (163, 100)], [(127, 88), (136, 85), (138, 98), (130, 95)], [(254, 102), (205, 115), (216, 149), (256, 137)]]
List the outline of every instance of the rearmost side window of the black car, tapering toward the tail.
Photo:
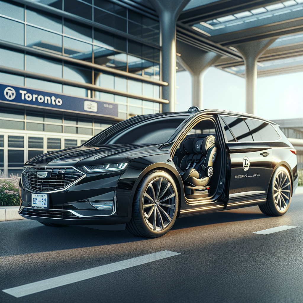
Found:
[(276, 141), (280, 139), (279, 134), (272, 125), (254, 119), (245, 119), (254, 141)]

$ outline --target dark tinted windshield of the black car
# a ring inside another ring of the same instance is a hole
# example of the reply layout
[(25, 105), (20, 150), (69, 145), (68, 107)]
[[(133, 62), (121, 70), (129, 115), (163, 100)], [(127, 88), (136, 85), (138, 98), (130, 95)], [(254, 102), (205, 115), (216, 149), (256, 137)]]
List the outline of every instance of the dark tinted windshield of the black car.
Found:
[(171, 138), (188, 115), (148, 118), (138, 116), (112, 125), (85, 145), (162, 144)]

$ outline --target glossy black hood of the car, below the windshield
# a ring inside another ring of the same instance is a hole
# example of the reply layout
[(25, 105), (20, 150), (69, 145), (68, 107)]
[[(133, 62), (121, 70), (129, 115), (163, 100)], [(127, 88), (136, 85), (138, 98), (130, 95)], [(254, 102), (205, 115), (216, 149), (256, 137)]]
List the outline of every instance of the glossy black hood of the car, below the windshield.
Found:
[(29, 160), (26, 165), (44, 166), (82, 166), (123, 161), (130, 155), (142, 155), (157, 150), (162, 145), (122, 144), (80, 146), (59, 151), (51, 151)]

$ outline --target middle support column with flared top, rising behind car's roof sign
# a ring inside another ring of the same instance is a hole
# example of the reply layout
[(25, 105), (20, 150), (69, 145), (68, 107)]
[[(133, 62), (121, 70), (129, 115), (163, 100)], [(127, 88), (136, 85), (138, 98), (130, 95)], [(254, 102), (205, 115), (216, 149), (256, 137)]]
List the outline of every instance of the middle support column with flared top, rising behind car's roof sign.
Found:
[(203, 80), (209, 67), (219, 58), (215, 52), (205, 52), (199, 48), (177, 41), (177, 52), (181, 54), (179, 61), (190, 72), (192, 80), (192, 106), (203, 109)]

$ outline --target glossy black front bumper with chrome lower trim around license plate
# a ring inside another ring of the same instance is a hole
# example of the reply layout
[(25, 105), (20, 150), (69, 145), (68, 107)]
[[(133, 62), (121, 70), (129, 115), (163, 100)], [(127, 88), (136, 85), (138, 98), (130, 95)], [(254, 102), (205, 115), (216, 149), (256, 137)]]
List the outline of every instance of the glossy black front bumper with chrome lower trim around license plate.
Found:
[[(122, 172), (89, 174), (64, 190), (49, 192), (49, 208), (32, 207), (32, 190), (19, 184), (19, 214), (26, 219), (67, 225), (124, 224), (128, 218), (128, 201), (116, 197)], [(98, 209), (95, 202), (112, 204), (110, 209)], [(91, 204), (93, 203), (93, 205)]]

